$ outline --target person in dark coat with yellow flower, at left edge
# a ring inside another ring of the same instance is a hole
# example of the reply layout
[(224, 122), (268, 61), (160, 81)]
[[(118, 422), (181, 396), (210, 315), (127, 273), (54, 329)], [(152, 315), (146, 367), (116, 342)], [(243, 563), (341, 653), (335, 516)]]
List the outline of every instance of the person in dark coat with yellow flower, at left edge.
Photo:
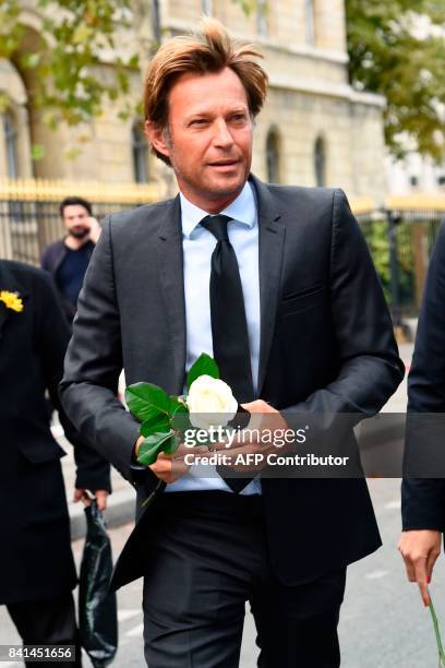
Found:
[[(70, 331), (51, 277), (0, 260), (0, 604), (25, 645), (70, 644), (81, 651), (72, 588), (76, 583), (60, 457), (45, 401), (60, 408), (58, 383)], [(59, 413), (67, 437), (73, 427)], [(76, 449), (76, 492), (96, 491), (103, 508), (109, 464)], [(74, 664), (71, 664), (74, 665)]]

